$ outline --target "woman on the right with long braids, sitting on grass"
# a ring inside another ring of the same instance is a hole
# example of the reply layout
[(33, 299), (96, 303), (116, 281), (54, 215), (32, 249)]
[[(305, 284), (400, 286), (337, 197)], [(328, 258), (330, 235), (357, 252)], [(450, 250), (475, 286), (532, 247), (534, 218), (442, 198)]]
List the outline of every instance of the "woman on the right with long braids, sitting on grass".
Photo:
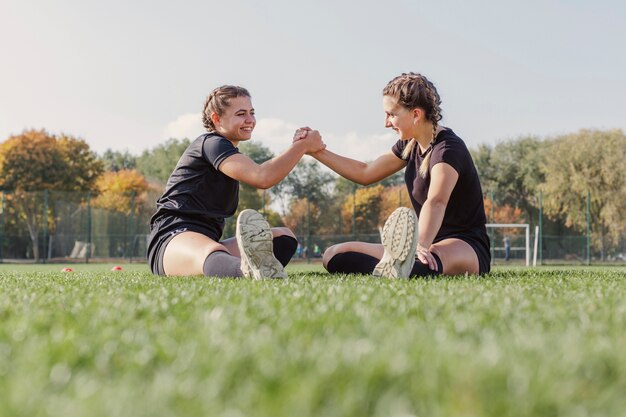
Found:
[[(399, 140), (389, 152), (364, 163), (327, 149), (311, 155), (339, 175), (367, 185), (406, 168), (411, 203), (383, 227), (381, 244), (347, 242), (323, 257), (329, 272), (407, 278), (483, 274), (491, 257), (483, 195), (465, 143), (439, 125), (441, 100), (423, 75), (406, 73), (383, 89), (385, 127)], [(302, 136), (297, 131), (294, 141)], [(419, 219), (419, 220), (418, 220)]]

